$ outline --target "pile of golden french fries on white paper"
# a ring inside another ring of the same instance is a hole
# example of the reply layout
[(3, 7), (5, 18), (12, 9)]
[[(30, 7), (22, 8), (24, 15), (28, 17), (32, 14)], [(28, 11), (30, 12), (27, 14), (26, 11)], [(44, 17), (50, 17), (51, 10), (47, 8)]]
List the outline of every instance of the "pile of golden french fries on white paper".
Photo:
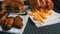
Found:
[(52, 12), (48, 9), (32, 9), (30, 16), (34, 16), (33, 19), (41, 24), (44, 24), (44, 20), (47, 19), (47, 16), (51, 16)]

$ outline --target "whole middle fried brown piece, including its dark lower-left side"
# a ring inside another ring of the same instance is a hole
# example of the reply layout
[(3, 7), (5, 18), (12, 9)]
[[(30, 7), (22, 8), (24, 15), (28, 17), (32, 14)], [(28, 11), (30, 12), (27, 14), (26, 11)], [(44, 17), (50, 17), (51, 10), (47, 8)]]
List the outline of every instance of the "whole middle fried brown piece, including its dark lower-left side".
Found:
[(3, 30), (9, 30), (14, 23), (14, 18), (13, 17), (8, 17), (2, 24), (2, 29)]

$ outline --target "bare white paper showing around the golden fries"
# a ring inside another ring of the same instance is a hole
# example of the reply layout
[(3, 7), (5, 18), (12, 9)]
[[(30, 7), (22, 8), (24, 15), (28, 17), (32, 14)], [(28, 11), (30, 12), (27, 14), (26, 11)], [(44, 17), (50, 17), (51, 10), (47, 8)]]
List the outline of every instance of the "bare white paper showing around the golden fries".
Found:
[(45, 22), (44, 22), (43, 25), (41, 25), (39, 22), (35, 21), (33, 19), (33, 16), (30, 16), (30, 18), (35, 23), (35, 25), (37, 27), (42, 27), (42, 26), (46, 26), (46, 25), (52, 25), (52, 24), (60, 23), (60, 18), (59, 18), (60, 17), (60, 14), (54, 12), (53, 10), (50, 10), (50, 11), (53, 12), (53, 15), (49, 16), (47, 18), (47, 20), (45, 20)]

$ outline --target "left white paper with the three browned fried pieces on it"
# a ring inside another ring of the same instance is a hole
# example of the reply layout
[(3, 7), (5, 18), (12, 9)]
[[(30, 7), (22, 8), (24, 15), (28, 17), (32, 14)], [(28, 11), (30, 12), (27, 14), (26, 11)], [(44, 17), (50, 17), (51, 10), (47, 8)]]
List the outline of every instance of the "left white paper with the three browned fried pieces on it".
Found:
[(0, 31), (22, 34), (28, 21), (27, 15), (5, 12), (0, 18)]

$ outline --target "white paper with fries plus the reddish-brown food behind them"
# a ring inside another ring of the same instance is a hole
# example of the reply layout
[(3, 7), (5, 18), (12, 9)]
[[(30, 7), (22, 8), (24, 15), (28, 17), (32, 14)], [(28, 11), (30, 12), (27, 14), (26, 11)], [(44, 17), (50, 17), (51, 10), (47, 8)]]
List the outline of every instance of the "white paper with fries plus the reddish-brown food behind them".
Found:
[(29, 17), (37, 27), (51, 25), (60, 22), (60, 14), (53, 11), (52, 0), (27, 0), (32, 10)]

